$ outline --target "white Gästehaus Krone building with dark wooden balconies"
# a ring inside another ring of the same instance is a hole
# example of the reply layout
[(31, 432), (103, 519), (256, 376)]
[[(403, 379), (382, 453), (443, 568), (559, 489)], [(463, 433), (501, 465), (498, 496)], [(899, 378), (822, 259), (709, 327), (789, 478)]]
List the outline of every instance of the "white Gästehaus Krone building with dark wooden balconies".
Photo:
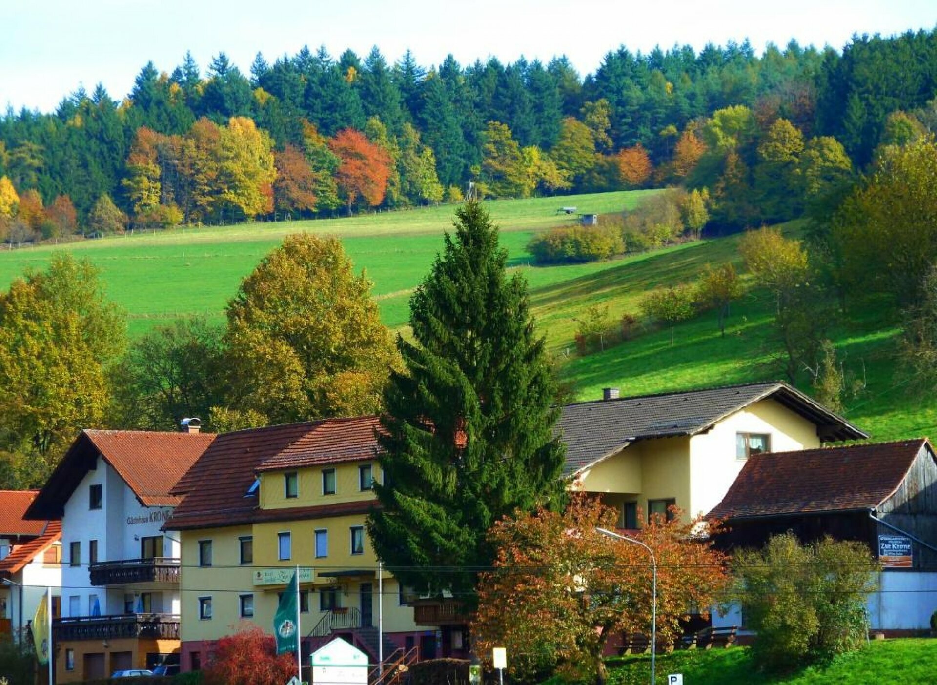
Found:
[(160, 528), (172, 486), (215, 439), (187, 431), (84, 430), (29, 505), (26, 519), (61, 520), (56, 682), (178, 658), (180, 546)]

